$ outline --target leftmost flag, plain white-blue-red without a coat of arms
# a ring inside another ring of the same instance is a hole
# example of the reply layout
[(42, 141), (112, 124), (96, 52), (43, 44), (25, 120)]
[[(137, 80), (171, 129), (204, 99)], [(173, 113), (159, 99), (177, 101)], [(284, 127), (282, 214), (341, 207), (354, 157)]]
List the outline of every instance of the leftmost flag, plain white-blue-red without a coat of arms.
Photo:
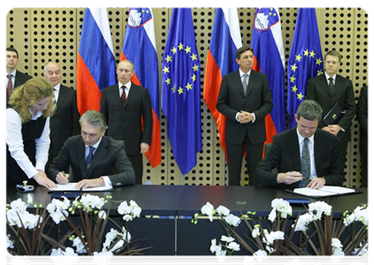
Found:
[(100, 111), (103, 88), (116, 83), (111, 31), (106, 7), (87, 7), (77, 58), (77, 104), (80, 115)]

